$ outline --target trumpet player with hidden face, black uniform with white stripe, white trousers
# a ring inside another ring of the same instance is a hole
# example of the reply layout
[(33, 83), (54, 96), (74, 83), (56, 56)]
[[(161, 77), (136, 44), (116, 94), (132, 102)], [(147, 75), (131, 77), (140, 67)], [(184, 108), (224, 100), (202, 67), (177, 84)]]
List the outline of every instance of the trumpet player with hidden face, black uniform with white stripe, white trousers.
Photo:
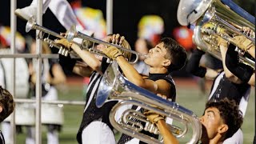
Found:
[[(120, 34), (110, 34), (102, 40), (130, 49), (129, 43)], [(60, 55), (59, 61), (62, 67), (66, 70), (73, 71), (75, 74), (90, 76), (89, 86), (86, 90), (86, 106), (77, 134), (78, 143), (116, 143), (113, 126), (111, 126), (109, 121), (110, 110), (116, 102), (106, 102), (101, 108), (95, 105), (99, 82), (102, 79), (102, 74), (105, 72), (106, 67), (110, 63), (106, 62), (107, 58), (102, 58), (102, 56), (91, 54), (89, 51), (81, 50), (74, 42), (67, 42), (66, 39), (56, 42), (66, 46), (67, 49), (74, 50), (83, 60), (83, 62), (78, 62), (71, 59), (70, 55), (68, 57)], [(97, 49), (104, 50), (105, 47), (99, 44)], [(124, 58), (130, 60), (130, 53), (125, 52)]]

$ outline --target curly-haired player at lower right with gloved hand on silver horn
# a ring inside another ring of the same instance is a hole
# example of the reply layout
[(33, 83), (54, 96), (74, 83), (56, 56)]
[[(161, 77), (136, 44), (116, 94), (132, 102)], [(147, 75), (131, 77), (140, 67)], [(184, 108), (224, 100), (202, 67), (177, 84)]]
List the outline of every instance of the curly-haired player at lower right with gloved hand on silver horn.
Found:
[[(160, 114), (147, 112), (146, 117), (158, 126), (165, 144), (177, 144), (178, 140), (166, 126), (164, 118)], [(202, 123), (202, 144), (220, 144), (226, 138), (232, 137), (234, 133), (242, 126), (242, 113), (234, 100), (224, 98), (220, 101), (206, 102), (205, 112), (200, 118)], [(236, 143), (236, 142), (231, 142)]]

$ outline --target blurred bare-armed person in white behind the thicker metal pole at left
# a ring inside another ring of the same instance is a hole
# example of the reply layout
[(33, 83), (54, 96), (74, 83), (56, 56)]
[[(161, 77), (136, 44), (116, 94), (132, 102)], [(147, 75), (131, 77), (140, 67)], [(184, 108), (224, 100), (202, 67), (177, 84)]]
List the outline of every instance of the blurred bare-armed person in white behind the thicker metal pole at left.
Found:
[[(30, 54), (36, 54), (36, 43), (32, 42), (30, 46)], [(47, 46), (46, 43), (42, 43), (42, 54), (51, 54), (50, 47)], [(32, 90), (32, 97), (35, 97), (35, 84), (36, 84), (36, 67), (37, 62), (36, 59), (32, 59), (29, 62), (29, 71), (30, 71), (30, 89)], [(64, 74), (62, 67), (49, 58), (42, 59), (42, 100), (54, 101), (58, 100), (58, 91), (56, 86), (66, 82), (66, 75)], [(47, 110), (43, 107), (47, 107), (46, 104), (42, 104), (42, 117)], [(49, 109), (54, 109), (52, 105), (48, 105)], [(60, 111), (54, 111), (55, 115), (59, 115)], [(55, 117), (53, 117), (55, 118)], [(59, 122), (59, 119), (57, 120)], [(54, 122), (54, 119), (52, 119)], [(57, 122), (57, 123), (58, 123)], [(42, 123), (44, 123), (44, 119), (42, 118)], [(58, 144), (58, 132), (61, 128), (61, 124), (52, 124), (46, 122), (47, 126), (47, 143), (48, 144)], [(26, 137), (26, 144), (34, 144), (34, 127), (28, 126), (28, 134)]]

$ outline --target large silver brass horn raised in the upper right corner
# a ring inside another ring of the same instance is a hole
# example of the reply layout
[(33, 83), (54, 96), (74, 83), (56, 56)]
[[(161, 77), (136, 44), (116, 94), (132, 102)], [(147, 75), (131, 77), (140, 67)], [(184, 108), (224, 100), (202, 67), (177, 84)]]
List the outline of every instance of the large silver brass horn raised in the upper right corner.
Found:
[[(182, 0), (178, 5), (178, 22), (187, 26), (195, 22), (193, 41), (199, 49), (222, 60), (218, 37), (238, 46), (234, 36), (242, 35), (255, 46), (255, 18), (231, 0)], [(246, 34), (247, 27), (253, 33)], [(226, 34), (222, 32), (225, 31)], [(237, 47), (239, 61), (255, 69), (255, 60)]]

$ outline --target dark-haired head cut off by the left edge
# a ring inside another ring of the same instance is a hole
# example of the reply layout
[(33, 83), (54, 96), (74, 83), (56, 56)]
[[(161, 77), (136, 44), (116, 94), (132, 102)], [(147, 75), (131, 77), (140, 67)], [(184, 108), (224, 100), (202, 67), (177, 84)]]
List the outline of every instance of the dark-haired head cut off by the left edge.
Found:
[(14, 111), (15, 107), (13, 96), (2, 86), (0, 86), (0, 106), (2, 106), (2, 112), (0, 113), (0, 122), (2, 122)]

